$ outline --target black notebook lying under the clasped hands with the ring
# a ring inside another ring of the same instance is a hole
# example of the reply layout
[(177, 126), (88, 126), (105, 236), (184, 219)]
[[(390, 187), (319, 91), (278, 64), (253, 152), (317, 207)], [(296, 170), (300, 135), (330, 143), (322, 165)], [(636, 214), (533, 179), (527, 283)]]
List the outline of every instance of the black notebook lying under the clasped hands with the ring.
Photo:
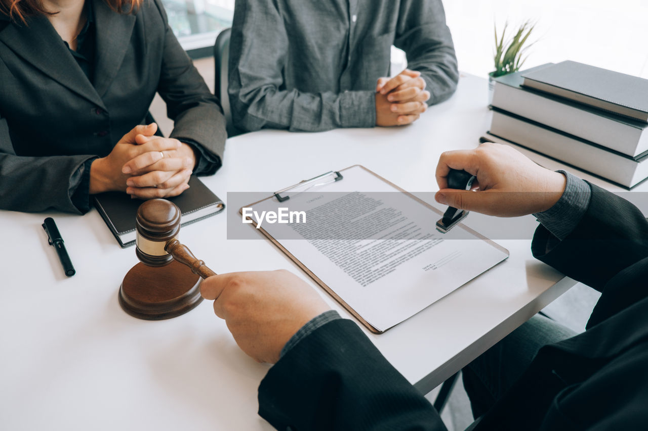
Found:
[[(200, 179), (192, 176), (189, 188), (181, 195), (168, 198), (178, 205), (182, 213), (181, 226), (218, 214), (225, 204)], [(135, 244), (135, 215), (143, 203), (141, 199), (131, 199), (122, 192), (107, 192), (95, 195), (95, 207), (104, 218), (106, 225), (121, 247)]]

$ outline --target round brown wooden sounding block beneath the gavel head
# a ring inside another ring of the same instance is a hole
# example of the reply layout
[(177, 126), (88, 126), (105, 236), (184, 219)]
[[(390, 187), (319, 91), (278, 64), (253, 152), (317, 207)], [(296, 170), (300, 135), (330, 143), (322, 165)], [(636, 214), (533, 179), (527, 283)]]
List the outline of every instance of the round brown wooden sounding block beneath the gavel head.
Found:
[(200, 276), (177, 261), (163, 267), (137, 263), (124, 277), (119, 304), (133, 317), (169, 319), (187, 313), (202, 302), (201, 281)]

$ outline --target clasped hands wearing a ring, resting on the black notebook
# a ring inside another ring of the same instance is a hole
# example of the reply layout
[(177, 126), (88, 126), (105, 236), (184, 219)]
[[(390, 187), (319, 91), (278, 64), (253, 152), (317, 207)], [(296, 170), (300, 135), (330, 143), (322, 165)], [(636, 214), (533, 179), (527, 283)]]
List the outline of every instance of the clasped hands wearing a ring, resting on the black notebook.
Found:
[(109, 155), (91, 166), (90, 193), (121, 191), (151, 199), (177, 196), (189, 188), (194, 151), (174, 138), (155, 135), (157, 124), (135, 126)]

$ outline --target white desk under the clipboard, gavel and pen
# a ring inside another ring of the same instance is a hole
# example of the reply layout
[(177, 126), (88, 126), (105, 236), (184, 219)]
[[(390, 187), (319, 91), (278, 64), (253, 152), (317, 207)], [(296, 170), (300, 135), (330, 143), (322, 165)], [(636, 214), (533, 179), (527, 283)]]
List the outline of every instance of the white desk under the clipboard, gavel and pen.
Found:
[[(432, 192), (439, 154), (474, 147), (488, 129), (486, 88), (464, 76), (451, 100), (409, 127), (242, 135), (228, 142), (224, 168), (203, 181), (226, 199), (228, 191), (273, 192), (360, 163), (406, 190)], [(72, 278), (47, 245), (47, 216), (65, 239)], [(0, 230), (0, 429), (271, 429), (257, 415), (268, 366), (238, 349), (211, 302), (159, 322), (121, 310), (117, 289), (137, 263), (135, 249), (120, 249), (95, 210), (0, 211)], [(306, 278), (268, 241), (228, 241), (225, 215), (183, 228), (181, 238), (217, 272), (286, 268)], [(533, 259), (528, 239), (498, 242), (511, 252), (507, 261), (384, 335), (369, 335), (422, 392), (573, 285), (555, 284), (561, 274)]]

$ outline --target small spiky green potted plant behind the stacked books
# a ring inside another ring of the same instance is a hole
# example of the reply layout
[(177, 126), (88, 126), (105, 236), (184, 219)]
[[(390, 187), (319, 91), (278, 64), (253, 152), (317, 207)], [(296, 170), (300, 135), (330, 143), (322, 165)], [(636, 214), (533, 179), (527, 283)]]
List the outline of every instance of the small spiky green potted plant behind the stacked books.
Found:
[(527, 59), (527, 56), (522, 57), (523, 54), (533, 45), (533, 43), (529, 43), (524, 46), (533, 27), (535, 27), (535, 25), (531, 25), (530, 21), (520, 25), (513, 37), (505, 40), (507, 27), (508, 23), (505, 23), (502, 36), (498, 38), (497, 25), (495, 25), (495, 70), (488, 74), (489, 104), (492, 102), (492, 92), (495, 88), (494, 78), (519, 71)]

